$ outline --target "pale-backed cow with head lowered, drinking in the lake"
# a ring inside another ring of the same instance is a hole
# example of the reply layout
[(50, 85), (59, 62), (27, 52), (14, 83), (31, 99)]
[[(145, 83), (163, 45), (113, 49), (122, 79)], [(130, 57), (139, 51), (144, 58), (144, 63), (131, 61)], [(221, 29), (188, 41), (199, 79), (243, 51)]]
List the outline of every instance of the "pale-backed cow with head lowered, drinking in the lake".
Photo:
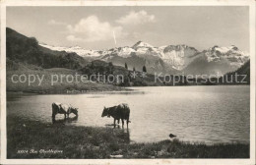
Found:
[(71, 105), (53, 102), (52, 105), (52, 120), (55, 120), (56, 114), (64, 114), (65, 119), (69, 118), (69, 114), (74, 113), (78, 116), (78, 108), (74, 108)]

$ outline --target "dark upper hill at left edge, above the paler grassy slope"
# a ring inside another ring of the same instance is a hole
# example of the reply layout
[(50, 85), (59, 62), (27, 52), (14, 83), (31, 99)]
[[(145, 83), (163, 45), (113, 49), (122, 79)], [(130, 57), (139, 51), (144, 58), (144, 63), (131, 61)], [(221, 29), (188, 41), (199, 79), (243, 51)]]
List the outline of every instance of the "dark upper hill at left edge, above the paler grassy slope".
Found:
[[(80, 69), (87, 61), (76, 53), (53, 51), (38, 45), (34, 37), (27, 37), (12, 28), (6, 28), (6, 56), (8, 70), (13, 63), (30, 67)], [(14, 66), (15, 67), (15, 66)]]

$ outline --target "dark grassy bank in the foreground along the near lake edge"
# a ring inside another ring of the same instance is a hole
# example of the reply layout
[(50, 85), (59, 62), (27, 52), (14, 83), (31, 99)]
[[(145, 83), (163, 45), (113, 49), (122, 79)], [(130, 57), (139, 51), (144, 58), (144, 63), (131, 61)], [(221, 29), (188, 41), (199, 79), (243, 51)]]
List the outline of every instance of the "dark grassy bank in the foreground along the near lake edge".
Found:
[(7, 117), (7, 136), (8, 158), (249, 158), (249, 144), (178, 139), (135, 143), (126, 129), (53, 125), (19, 117)]

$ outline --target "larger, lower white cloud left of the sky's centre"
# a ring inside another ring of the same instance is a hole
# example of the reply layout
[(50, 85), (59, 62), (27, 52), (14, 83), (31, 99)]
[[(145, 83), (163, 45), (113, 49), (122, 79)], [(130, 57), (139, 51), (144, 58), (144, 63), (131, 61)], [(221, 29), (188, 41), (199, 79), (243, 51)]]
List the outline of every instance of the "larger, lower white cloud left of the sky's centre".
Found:
[(122, 27), (113, 27), (108, 22), (100, 22), (96, 16), (81, 19), (75, 26), (67, 26), (70, 41), (94, 42), (113, 39), (113, 31), (116, 37), (122, 35)]

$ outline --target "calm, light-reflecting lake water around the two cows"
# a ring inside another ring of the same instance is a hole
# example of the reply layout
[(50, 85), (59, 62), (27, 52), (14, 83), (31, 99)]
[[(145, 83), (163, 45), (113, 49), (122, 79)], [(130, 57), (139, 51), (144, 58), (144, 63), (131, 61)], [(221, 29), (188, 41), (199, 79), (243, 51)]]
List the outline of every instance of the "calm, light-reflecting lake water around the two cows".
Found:
[[(208, 144), (249, 142), (248, 85), (133, 89), (86, 94), (8, 93), (7, 114), (50, 123), (51, 103), (61, 102), (79, 108), (78, 119), (68, 125), (109, 127), (113, 119), (101, 118), (103, 107), (127, 103), (131, 109), (129, 133), (132, 141), (159, 141), (173, 134), (182, 140)], [(63, 119), (63, 115), (57, 115), (56, 119)]]

